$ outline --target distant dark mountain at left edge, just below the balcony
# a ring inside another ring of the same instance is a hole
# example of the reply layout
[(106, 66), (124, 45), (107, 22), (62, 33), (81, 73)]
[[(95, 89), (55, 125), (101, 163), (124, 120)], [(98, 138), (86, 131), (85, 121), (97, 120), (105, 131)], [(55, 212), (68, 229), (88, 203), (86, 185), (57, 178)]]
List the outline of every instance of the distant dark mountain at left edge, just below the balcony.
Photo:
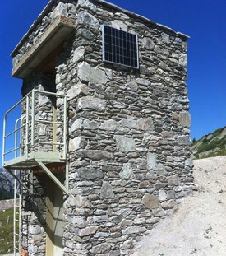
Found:
[(0, 200), (13, 198), (13, 184), (12, 176), (0, 168)]

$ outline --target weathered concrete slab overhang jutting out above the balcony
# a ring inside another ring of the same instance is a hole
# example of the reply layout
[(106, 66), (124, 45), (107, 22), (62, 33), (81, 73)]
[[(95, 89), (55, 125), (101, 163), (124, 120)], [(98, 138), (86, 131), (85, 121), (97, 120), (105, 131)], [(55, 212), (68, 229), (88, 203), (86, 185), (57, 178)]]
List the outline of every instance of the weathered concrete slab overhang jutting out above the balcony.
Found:
[(12, 77), (25, 78), (76, 28), (76, 21), (58, 16), (12, 69)]

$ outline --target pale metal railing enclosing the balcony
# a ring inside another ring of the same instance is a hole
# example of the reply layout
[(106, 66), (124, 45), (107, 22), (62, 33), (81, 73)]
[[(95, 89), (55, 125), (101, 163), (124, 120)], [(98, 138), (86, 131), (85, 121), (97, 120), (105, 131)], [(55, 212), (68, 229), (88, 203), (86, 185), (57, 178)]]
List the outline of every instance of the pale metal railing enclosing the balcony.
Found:
[(66, 158), (67, 95), (32, 90), (5, 114), (2, 165), (35, 151)]

